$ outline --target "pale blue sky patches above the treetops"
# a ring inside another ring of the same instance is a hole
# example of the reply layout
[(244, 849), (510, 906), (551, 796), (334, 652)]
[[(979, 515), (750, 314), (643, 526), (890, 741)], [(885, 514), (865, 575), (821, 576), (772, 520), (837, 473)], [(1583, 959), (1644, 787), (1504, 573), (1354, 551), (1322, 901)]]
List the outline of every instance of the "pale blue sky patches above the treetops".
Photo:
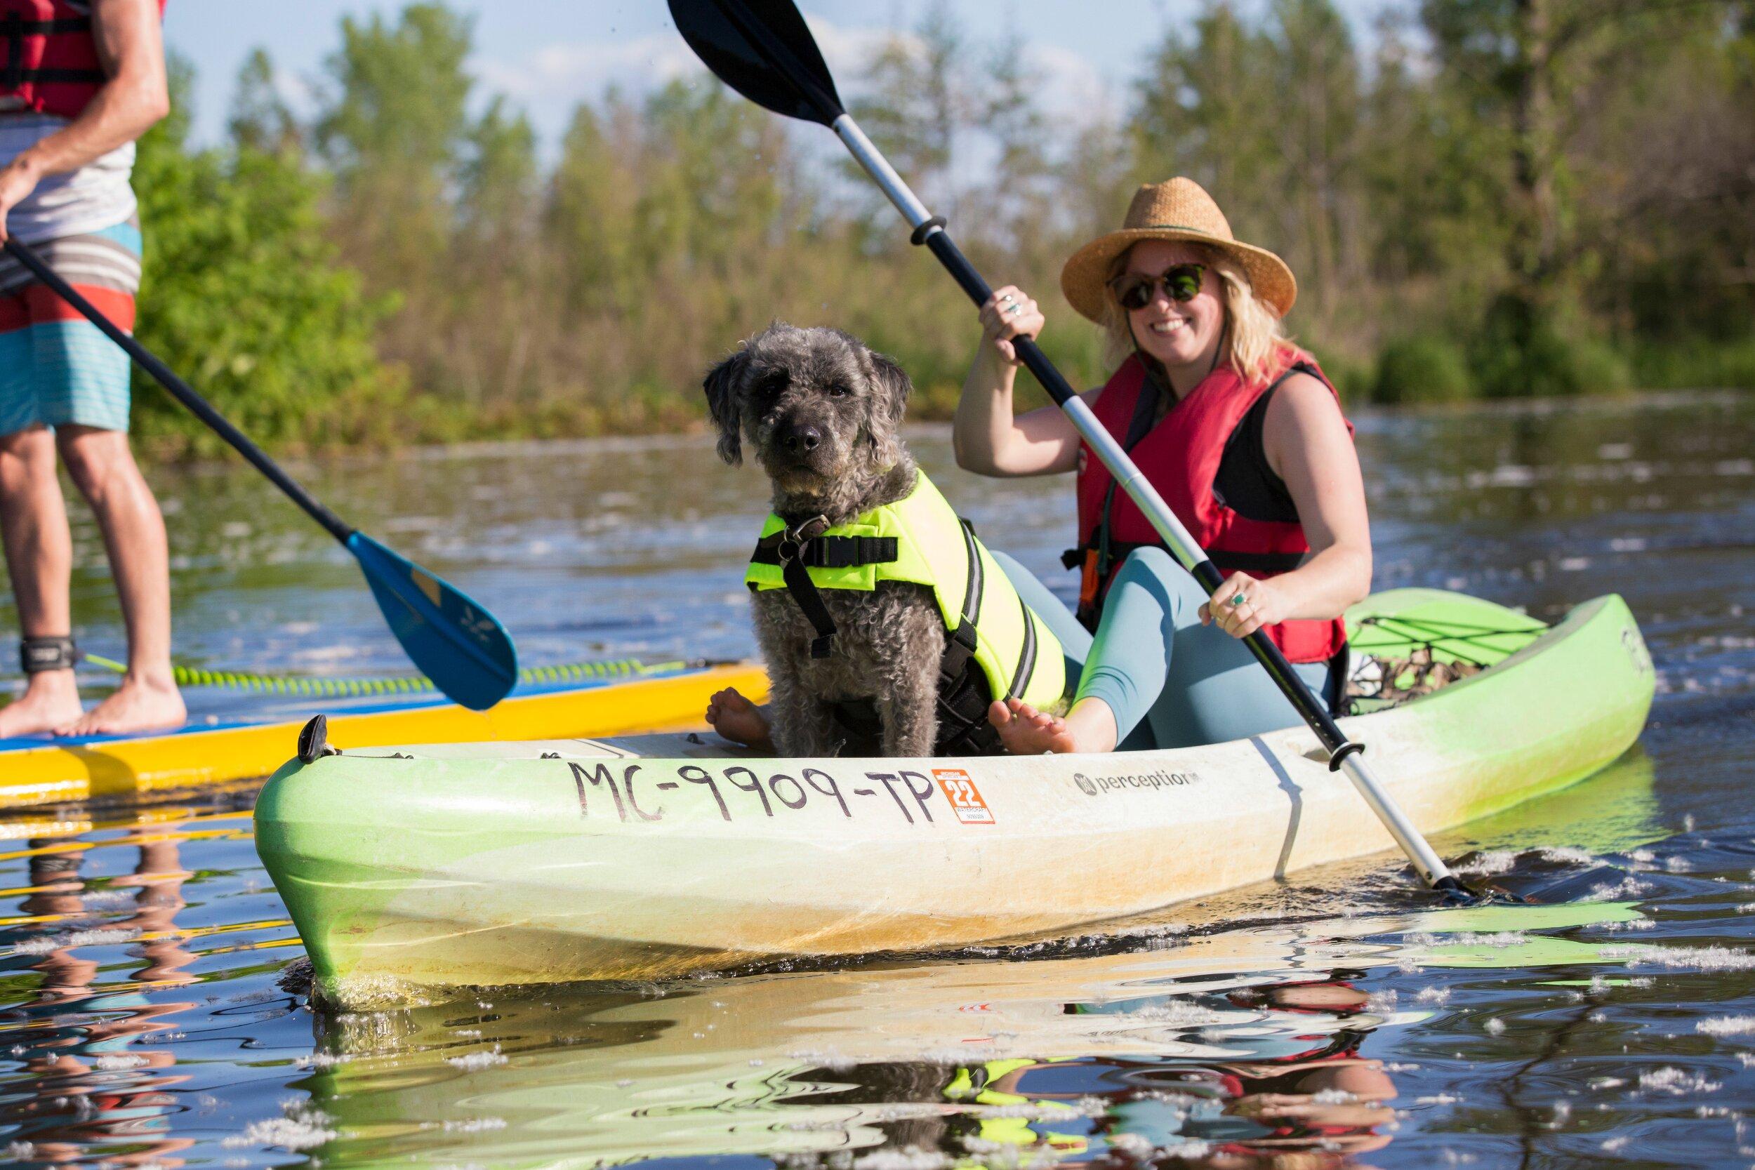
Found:
[[(846, 70), (892, 30), (918, 23), (928, 0), (804, 0), (800, 7), (823, 44), (830, 67)], [(1255, 0), (1257, 4), (1260, 0)], [(1337, 0), (1360, 32), (1397, 0)], [(663, 0), (453, 0), (476, 18), (470, 61), (483, 91), (505, 91), (553, 144), (574, 105), (597, 98), (611, 82), (639, 89), (695, 68), (670, 26)], [(1023, 37), (1032, 61), (1053, 79), (1048, 109), (1078, 114), (1099, 102), (1125, 100), (1143, 54), (1164, 30), (1190, 19), (1199, 0), (949, 0), (972, 39), (997, 40), (1004, 16)], [(1248, 4), (1244, 5), (1248, 7)], [(232, 82), (246, 54), (267, 47), (297, 96), (321, 77), (340, 18), (395, 14), (395, 0), (170, 0), (165, 39), (195, 63), (195, 128), (216, 139), (226, 121)], [(491, 16), (490, 16), (491, 14)]]

